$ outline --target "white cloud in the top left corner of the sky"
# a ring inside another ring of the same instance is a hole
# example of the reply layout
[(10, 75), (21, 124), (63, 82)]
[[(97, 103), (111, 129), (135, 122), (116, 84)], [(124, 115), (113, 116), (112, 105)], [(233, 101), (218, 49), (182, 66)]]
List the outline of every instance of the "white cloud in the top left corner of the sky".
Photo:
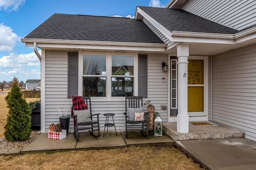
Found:
[(24, 2), (25, 0), (0, 0), (0, 10), (17, 10)]

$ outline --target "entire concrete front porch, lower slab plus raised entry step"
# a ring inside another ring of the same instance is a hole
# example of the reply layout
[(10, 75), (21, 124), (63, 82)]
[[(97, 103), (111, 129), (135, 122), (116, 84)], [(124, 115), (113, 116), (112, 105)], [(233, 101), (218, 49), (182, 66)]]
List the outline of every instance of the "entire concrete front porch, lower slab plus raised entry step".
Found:
[(228, 127), (214, 122), (217, 126), (189, 126), (189, 133), (179, 133), (176, 130), (176, 122), (163, 123), (163, 136), (142, 136), (140, 130), (129, 130), (128, 138), (125, 132), (119, 130), (117, 136), (115, 131), (98, 138), (88, 132), (82, 132), (80, 139), (75, 140), (73, 134), (62, 140), (50, 140), (47, 133), (40, 134), (36, 140), (30, 143), (24, 152), (46, 151), (46, 150), (81, 150), (81, 149), (104, 149), (122, 148), (126, 146), (166, 146), (174, 145), (176, 140), (218, 139), (218, 138), (244, 138), (244, 132), (236, 128)]

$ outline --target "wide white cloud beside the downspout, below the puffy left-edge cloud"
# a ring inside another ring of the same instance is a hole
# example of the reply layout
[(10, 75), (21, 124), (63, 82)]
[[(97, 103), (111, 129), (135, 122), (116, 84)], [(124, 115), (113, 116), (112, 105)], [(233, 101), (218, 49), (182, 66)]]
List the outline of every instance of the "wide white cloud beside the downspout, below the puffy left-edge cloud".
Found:
[[(38, 51), (41, 53), (41, 50)], [(0, 58), (0, 69), (12, 68), (19, 69), (26, 66), (39, 66), (40, 61), (34, 52), (28, 54), (10, 53), (8, 56)]]

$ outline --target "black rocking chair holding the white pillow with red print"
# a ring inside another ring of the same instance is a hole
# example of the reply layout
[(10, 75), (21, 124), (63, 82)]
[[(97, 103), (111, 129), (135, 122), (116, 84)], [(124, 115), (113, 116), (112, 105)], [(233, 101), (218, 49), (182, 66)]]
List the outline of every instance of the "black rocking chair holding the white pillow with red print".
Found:
[[(128, 136), (128, 129), (131, 128), (140, 128), (141, 126), (141, 133), (143, 136), (148, 136), (148, 126), (147, 126), (147, 113), (144, 112), (144, 121), (130, 121), (128, 120), (128, 107), (130, 108), (139, 108), (143, 106), (142, 103), (142, 96), (125, 96), (125, 136), (127, 138)], [(136, 125), (136, 124), (141, 124), (141, 125)], [(144, 128), (146, 126), (146, 128)], [(144, 132), (146, 130), (146, 133)]]

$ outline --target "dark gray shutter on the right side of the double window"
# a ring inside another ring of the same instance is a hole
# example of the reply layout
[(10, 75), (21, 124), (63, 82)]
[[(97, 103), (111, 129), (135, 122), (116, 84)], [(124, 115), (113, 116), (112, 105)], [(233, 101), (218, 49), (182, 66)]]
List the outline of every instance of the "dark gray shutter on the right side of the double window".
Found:
[(148, 55), (138, 55), (138, 96), (148, 97)]

